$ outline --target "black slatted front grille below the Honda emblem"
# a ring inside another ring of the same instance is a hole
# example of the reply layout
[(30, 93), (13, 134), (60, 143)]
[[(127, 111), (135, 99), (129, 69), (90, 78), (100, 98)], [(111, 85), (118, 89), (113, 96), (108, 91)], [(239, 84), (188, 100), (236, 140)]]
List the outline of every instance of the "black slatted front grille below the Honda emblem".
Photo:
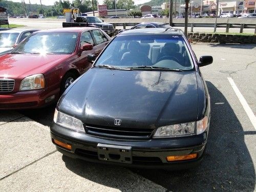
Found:
[(98, 125), (86, 125), (86, 132), (89, 135), (117, 139), (148, 139), (153, 134), (152, 129), (134, 129), (123, 127), (108, 127)]

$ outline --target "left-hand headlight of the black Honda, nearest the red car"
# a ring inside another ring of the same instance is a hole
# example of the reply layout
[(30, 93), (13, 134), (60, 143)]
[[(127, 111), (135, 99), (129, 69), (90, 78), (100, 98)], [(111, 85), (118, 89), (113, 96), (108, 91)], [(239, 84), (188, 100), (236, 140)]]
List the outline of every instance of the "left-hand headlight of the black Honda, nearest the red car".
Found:
[(81, 120), (71, 117), (70, 115), (66, 115), (65, 113), (61, 113), (56, 109), (55, 109), (53, 121), (56, 124), (66, 127), (70, 130), (75, 130), (78, 132), (85, 133)]

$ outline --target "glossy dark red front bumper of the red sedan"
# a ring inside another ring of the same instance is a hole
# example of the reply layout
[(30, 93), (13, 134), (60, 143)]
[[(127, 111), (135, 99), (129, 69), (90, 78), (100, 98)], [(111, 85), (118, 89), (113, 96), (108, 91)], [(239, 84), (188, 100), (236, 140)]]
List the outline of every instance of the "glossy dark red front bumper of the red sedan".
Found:
[[(40, 108), (56, 101), (58, 99), (58, 91), (57, 89), (50, 92), (46, 90), (32, 90), (6, 94), (0, 93), (0, 109), (18, 110)], [(46, 99), (52, 95), (55, 95), (55, 99), (46, 102)]]

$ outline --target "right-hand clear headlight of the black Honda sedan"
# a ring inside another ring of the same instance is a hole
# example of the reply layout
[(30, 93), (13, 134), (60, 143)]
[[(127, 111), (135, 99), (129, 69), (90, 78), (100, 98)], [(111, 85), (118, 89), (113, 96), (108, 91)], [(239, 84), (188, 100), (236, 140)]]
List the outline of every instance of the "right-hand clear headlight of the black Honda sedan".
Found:
[(153, 138), (167, 138), (167, 137), (184, 137), (190, 135), (199, 135), (203, 133), (208, 125), (208, 117), (196, 122), (180, 123), (173, 125), (166, 125), (158, 127)]

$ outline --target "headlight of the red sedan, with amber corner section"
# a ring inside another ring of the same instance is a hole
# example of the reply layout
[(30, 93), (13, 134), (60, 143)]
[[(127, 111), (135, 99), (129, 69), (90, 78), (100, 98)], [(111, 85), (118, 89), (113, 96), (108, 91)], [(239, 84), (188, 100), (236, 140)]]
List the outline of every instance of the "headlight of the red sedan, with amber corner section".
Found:
[(45, 88), (45, 77), (43, 74), (35, 74), (25, 77), (20, 83), (19, 90), (36, 90)]

